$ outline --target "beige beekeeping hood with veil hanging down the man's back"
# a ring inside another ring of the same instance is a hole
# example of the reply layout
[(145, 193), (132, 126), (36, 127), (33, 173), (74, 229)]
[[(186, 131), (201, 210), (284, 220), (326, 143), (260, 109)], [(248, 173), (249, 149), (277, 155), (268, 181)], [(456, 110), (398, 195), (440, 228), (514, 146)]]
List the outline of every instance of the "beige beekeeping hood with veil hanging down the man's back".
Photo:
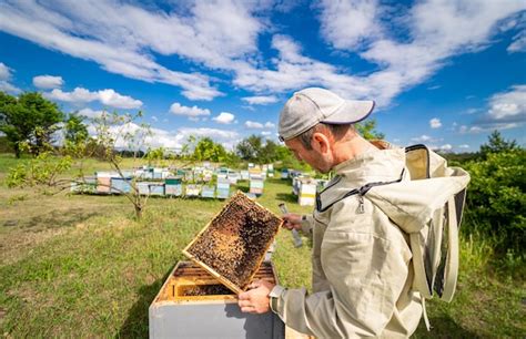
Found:
[[(413, 253), (413, 288), (422, 296), (424, 320), (429, 330), (425, 299), (451, 301), (458, 276), (458, 227), (466, 199), (469, 174), (448, 167), (446, 160), (418, 144), (405, 148), (406, 173), (411, 181), (371, 183), (360, 188), (392, 222), (408, 235)], [(376, 187), (382, 186), (382, 189)], [(376, 188), (376, 189), (375, 189)], [(387, 188), (387, 189), (385, 189)], [(426, 189), (429, 196), (404, 196), (411, 189)], [(401, 196), (404, 196), (401, 198)], [(417, 201), (419, 199), (419, 201)]]

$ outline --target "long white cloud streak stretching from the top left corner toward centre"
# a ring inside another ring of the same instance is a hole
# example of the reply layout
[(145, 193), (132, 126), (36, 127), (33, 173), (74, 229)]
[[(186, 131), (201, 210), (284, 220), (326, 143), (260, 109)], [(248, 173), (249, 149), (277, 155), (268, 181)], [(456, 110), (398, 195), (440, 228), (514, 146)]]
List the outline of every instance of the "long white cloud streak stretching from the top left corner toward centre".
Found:
[[(60, 7), (36, 1), (13, 2), (2, 3), (0, 30), (94, 61), (112, 73), (180, 86), (182, 94), (192, 100), (212, 100), (222, 93), (210, 84), (206, 75), (169, 70), (156, 63), (148, 51), (200, 61), (206, 56), (199, 55), (210, 55), (213, 60), (218, 55), (225, 59), (243, 54), (250, 51), (247, 40), (252, 35), (255, 39), (259, 27), (249, 27), (251, 18), (241, 7), (196, 4), (193, 17), (188, 20), (112, 1), (63, 1)], [(219, 19), (205, 20), (206, 16), (213, 18), (218, 13), (221, 13)], [(243, 18), (250, 22), (245, 23)], [(160, 31), (163, 34), (159, 34)]]

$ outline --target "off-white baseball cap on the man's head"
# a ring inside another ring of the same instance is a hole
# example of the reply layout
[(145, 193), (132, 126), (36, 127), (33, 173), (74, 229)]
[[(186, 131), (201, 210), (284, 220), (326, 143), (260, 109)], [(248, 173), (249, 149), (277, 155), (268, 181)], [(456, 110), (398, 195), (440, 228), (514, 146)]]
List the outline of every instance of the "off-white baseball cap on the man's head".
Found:
[(354, 124), (367, 117), (374, 101), (345, 100), (318, 88), (294, 93), (280, 113), (277, 133), (280, 140), (291, 140), (317, 123)]

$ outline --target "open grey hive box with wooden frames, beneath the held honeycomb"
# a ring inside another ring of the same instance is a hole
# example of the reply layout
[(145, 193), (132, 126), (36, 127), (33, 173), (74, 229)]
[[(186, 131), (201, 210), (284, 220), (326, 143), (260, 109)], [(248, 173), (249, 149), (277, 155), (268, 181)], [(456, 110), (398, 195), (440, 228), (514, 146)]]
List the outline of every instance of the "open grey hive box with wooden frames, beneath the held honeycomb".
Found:
[[(277, 284), (274, 267), (263, 263), (256, 279)], [(149, 308), (150, 338), (284, 338), (273, 312), (242, 314), (237, 298), (208, 271), (180, 261)]]

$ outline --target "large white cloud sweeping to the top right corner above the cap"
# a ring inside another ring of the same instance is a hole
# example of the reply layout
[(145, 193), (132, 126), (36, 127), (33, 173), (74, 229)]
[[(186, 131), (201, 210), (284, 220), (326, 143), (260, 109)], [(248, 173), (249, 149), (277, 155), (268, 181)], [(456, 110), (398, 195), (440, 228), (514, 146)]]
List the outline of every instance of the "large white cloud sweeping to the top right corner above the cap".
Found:
[[(378, 22), (370, 9), (371, 2), (353, 2), (355, 6), (347, 3), (351, 2), (327, 1), (324, 4), (322, 27), (334, 28), (330, 30), (331, 34), (325, 33), (323, 37), (335, 48), (345, 51), (356, 52), (358, 47), (360, 55), (381, 69), (364, 76), (342, 76), (331, 70), (333, 76), (321, 83), (346, 90), (342, 92), (356, 93), (357, 96), (372, 96), (381, 105), (388, 103), (401, 91), (428, 79), (448, 58), (487, 47), (500, 20), (526, 9), (526, 2), (519, 0), (427, 0), (416, 2), (406, 11), (402, 6), (396, 11), (381, 7), (383, 18), (393, 20)], [(336, 7), (341, 10), (335, 10)], [(357, 22), (368, 29), (357, 29), (351, 33), (338, 29), (338, 20), (345, 22), (350, 13), (360, 18), (362, 21)], [(404, 41), (392, 39), (390, 24), (396, 24), (397, 31), (402, 29), (407, 33), (404, 34)], [(361, 41), (367, 43), (362, 44)], [(336, 75), (345, 82), (337, 85), (334, 79)], [(361, 89), (357, 81), (363, 88), (362, 92), (357, 91)]]

